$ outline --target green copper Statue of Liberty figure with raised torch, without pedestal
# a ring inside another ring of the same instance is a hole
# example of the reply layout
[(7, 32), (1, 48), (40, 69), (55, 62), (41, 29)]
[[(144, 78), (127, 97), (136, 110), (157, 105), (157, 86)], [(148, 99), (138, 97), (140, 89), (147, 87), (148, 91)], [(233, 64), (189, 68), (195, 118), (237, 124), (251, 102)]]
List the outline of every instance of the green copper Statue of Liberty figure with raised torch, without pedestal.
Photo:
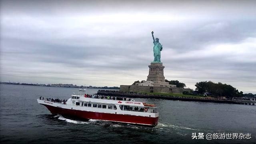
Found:
[(152, 34), (153, 43), (154, 43), (154, 48), (153, 48), (153, 51), (154, 51), (154, 61), (151, 62), (151, 63), (161, 63), (162, 64), (162, 62), (160, 60), (160, 58), (161, 58), (160, 51), (162, 51), (163, 47), (162, 47), (162, 45), (159, 42), (159, 38), (156, 38), (156, 39), (154, 38), (154, 35), (153, 35), (154, 32), (153, 31), (151, 32), (151, 34)]

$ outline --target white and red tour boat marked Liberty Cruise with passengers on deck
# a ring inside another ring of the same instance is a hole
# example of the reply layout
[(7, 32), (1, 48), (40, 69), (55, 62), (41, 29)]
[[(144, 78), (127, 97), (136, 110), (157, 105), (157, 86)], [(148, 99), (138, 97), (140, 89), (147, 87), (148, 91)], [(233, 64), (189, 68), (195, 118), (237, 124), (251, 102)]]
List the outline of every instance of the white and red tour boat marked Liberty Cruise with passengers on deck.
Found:
[(88, 97), (86, 90), (80, 89), (78, 95), (71, 95), (66, 102), (37, 100), (52, 114), (61, 114), (68, 118), (82, 120), (105, 120), (142, 126), (156, 126), (159, 113), (154, 104), (128, 100), (111, 100)]

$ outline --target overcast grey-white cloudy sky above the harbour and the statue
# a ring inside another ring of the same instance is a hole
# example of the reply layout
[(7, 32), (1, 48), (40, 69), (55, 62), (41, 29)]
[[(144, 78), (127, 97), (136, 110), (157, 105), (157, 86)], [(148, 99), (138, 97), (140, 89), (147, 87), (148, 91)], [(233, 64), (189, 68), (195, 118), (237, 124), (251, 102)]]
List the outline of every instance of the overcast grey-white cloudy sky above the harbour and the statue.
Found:
[(163, 45), (168, 80), (213, 81), (256, 93), (256, 2), (3, 1), (2, 82), (130, 85)]

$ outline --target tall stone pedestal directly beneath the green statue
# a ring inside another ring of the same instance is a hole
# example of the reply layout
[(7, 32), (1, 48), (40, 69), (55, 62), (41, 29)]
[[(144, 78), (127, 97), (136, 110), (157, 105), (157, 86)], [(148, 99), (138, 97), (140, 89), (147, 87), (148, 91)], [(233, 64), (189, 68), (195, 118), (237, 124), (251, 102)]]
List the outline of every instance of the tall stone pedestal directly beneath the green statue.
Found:
[(149, 67), (149, 74), (148, 74), (147, 81), (165, 82), (163, 64), (151, 63), (148, 67)]

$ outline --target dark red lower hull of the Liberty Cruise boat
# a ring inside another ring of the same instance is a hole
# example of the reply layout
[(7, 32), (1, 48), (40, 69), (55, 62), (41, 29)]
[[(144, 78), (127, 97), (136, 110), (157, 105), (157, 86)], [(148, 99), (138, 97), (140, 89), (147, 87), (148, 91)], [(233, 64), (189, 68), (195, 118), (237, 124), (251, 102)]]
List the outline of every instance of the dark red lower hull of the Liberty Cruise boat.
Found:
[(64, 108), (58, 108), (54, 106), (45, 105), (52, 114), (61, 114), (63, 116), (70, 116), (80, 119), (96, 119), (96, 120), (108, 120), (114, 122), (125, 122), (132, 124), (142, 124), (148, 126), (156, 126), (158, 123), (158, 117), (146, 117), (146, 116), (131, 116), (124, 114), (108, 114), (100, 112), (88, 112), (82, 110), (70, 110)]

